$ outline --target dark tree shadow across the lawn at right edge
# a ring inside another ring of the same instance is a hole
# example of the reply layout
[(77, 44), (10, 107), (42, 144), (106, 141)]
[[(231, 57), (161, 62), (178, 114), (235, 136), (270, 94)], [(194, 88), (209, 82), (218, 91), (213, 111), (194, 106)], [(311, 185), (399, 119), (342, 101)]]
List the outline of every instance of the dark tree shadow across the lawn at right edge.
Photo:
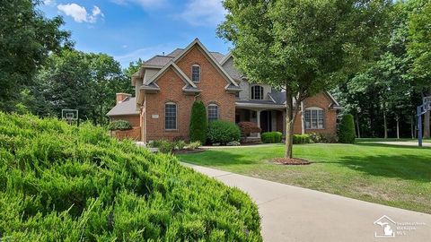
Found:
[(431, 181), (431, 156), (415, 154), (345, 156), (339, 159), (339, 165), (375, 177), (401, 178), (419, 182)]

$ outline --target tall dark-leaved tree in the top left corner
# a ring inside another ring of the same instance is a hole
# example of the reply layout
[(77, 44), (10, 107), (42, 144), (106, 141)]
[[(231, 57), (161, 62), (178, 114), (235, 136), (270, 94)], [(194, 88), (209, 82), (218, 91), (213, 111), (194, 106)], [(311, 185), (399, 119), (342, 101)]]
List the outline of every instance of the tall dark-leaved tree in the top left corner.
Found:
[(0, 5), (0, 109), (12, 111), (22, 88), (51, 52), (72, 47), (70, 33), (60, 30), (59, 16), (47, 19), (36, 9), (40, 1), (5, 0)]

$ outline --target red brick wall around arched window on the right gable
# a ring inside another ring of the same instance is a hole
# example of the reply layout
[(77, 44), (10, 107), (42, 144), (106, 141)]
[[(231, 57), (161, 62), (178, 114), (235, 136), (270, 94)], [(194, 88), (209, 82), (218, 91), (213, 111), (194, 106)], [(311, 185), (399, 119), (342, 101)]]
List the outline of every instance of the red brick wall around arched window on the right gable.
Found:
[[(330, 98), (323, 92), (304, 100), (304, 108), (318, 107), (323, 109), (324, 128), (323, 129), (305, 129), (305, 133), (336, 134), (337, 133), (337, 111), (329, 108)], [(298, 113), (294, 124), (294, 134), (302, 134), (301, 112)]]

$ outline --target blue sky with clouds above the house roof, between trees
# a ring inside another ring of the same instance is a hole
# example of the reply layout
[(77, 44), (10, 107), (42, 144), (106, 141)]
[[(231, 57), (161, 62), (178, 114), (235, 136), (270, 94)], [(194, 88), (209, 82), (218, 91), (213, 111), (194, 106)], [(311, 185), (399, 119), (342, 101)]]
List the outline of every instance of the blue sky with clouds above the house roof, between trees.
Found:
[(168, 54), (198, 38), (211, 51), (227, 53), (216, 37), (224, 19), (220, 0), (44, 0), (47, 17), (63, 16), (75, 48), (114, 56), (123, 67), (139, 57)]

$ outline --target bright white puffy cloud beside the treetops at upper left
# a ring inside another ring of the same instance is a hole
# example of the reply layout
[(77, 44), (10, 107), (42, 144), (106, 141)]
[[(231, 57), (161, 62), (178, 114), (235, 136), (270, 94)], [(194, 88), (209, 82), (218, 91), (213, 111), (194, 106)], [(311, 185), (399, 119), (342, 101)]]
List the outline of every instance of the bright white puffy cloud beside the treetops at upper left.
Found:
[(92, 13), (87, 13), (84, 6), (78, 4), (58, 4), (57, 9), (67, 16), (74, 18), (75, 22), (97, 22), (98, 16), (103, 17), (101, 9), (98, 6), (92, 7)]

